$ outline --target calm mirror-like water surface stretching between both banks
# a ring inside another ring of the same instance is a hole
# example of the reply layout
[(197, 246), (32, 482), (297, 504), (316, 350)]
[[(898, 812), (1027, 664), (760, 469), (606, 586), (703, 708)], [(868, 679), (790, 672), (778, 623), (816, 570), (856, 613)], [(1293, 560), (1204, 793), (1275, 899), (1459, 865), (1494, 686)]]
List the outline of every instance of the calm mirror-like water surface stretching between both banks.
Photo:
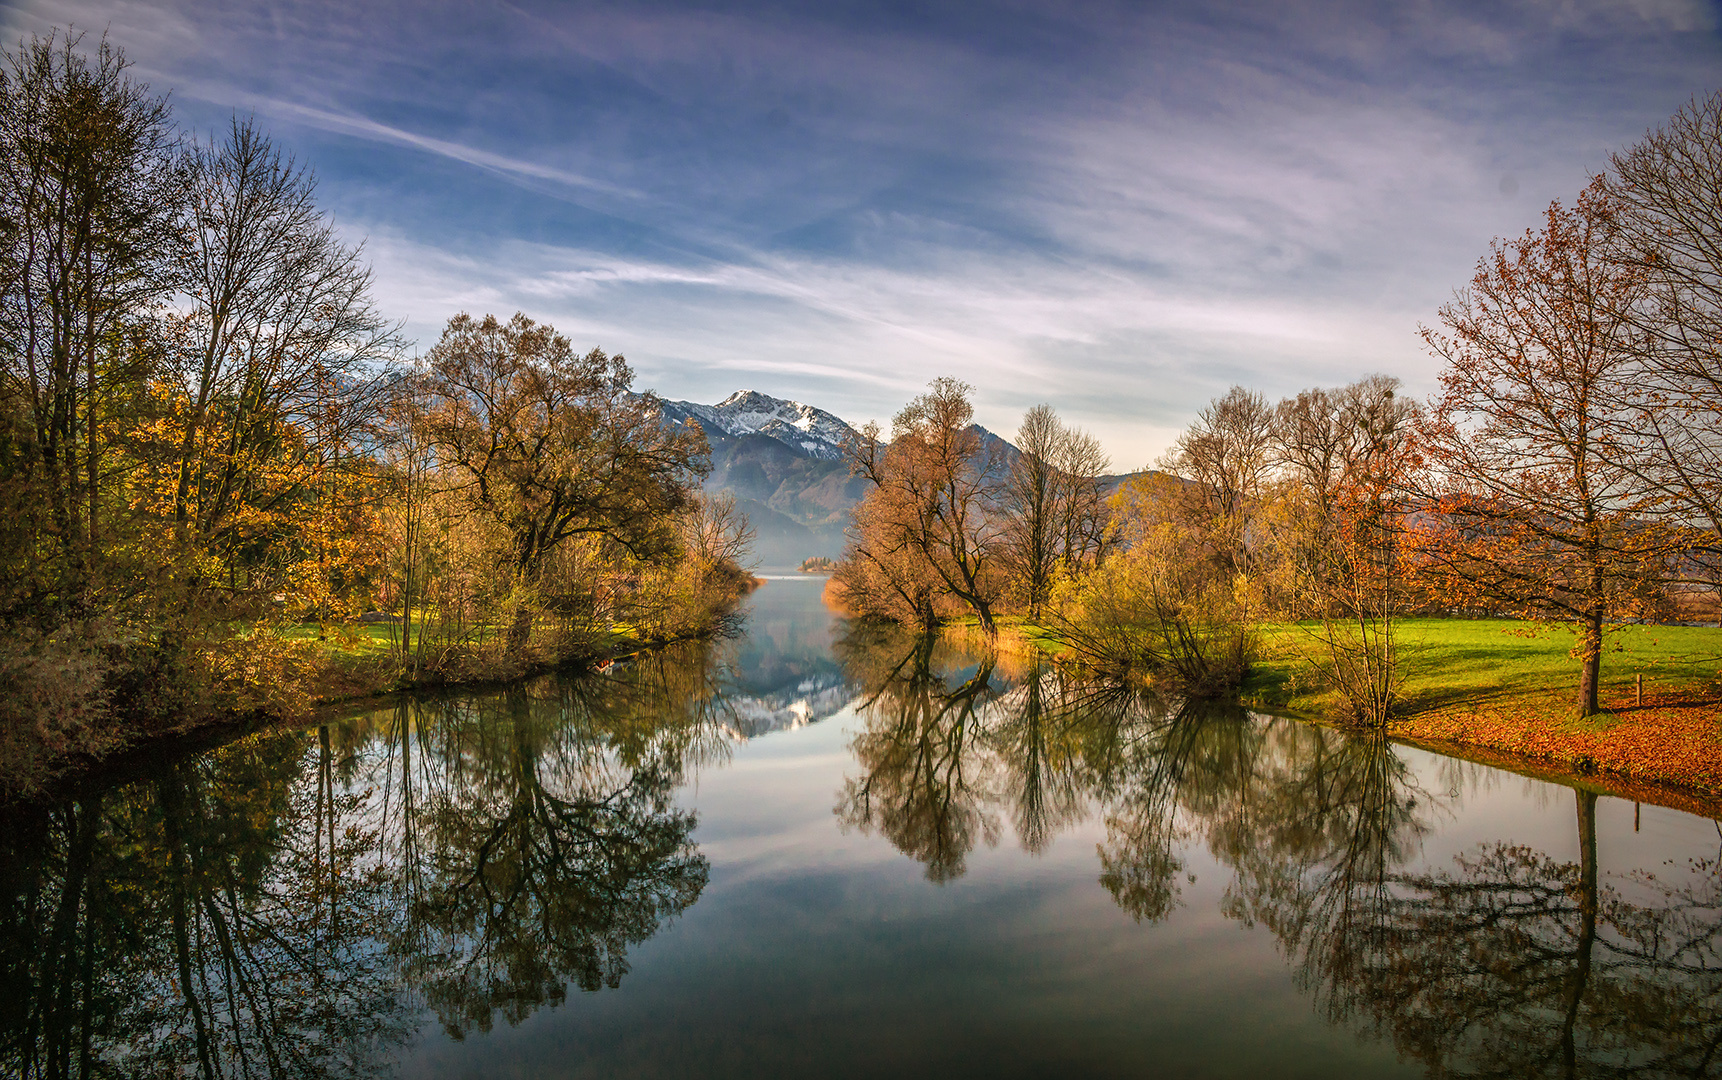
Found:
[(1715, 822), (821, 582), (5, 820), (0, 1073), (1722, 1073)]

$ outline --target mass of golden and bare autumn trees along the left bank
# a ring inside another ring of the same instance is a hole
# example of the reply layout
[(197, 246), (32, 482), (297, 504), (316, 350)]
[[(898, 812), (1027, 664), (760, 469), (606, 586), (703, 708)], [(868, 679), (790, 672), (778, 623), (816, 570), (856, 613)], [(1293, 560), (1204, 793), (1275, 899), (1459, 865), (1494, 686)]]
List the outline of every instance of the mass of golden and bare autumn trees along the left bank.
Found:
[[(391, 677), (709, 630), (746, 586), (697, 429), (622, 357), (458, 315), (422, 360), (248, 119), (201, 136), (121, 50), (0, 74), (0, 761), (303, 701), (294, 624)], [(3, 784), (0, 784), (3, 787)]]

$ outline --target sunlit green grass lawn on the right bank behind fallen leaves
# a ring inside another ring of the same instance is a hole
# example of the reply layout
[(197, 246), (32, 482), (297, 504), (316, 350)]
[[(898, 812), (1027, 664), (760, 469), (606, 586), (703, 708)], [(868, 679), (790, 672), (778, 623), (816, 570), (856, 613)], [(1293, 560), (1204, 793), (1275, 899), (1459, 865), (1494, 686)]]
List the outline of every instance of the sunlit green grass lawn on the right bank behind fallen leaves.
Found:
[[(1264, 661), (1245, 694), (1262, 706), (1319, 711), (1324, 699), (1309, 677), (1309, 656), (1321, 642), (1309, 624), (1269, 625)], [(1570, 630), (1508, 618), (1403, 618), (1398, 622), (1400, 670), (1412, 711), (1526, 696), (1567, 701), (1577, 694), (1579, 661), (1569, 653)], [(1622, 627), (1603, 653), (1603, 699), (1632, 694), (1645, 675), (1646, 698), (1696, 691), (1722, 675), (1722, 629)]]

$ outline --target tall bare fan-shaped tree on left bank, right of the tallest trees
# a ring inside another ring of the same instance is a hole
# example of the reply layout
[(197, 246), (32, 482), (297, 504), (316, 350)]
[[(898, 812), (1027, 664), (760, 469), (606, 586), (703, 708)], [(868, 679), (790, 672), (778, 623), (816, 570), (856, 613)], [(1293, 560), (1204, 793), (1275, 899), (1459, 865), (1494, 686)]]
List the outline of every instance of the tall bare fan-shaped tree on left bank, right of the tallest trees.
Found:
[(189, 172), (162, 510), (181, 551), (214, 551), (232, 582), (258, 515), (327, 501), (325, 477), (369, 465), (355, 443), (379, 415), (400, 338), (360, 250), (317, 210), (313, 177), (250, 121), (196, 143)]

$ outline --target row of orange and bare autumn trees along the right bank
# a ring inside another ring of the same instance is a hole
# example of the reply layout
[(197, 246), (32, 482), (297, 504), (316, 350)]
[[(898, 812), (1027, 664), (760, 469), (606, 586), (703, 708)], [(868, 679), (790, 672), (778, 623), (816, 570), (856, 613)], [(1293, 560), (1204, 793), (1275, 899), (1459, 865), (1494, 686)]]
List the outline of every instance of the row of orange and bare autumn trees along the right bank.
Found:
[(1233, 388), (1104, 505), (1056, 420), (1040, 441), (1031, 413), (1004, 470), (938, 381), (858, 446), (875, 484), (839, 580), (858, 611), (1014, 610), (1197, 691), (1238, 682), (1252, 627), (1304, 620), (1366, 722), (1397, 699), (1395, 615), (1558, 622), (1595, 713), (1610, 625), (1722, 587), (1722, 93), (1491, 245), (1421, 332), (1428, 403), (1381, 376), (1278, 405)]

